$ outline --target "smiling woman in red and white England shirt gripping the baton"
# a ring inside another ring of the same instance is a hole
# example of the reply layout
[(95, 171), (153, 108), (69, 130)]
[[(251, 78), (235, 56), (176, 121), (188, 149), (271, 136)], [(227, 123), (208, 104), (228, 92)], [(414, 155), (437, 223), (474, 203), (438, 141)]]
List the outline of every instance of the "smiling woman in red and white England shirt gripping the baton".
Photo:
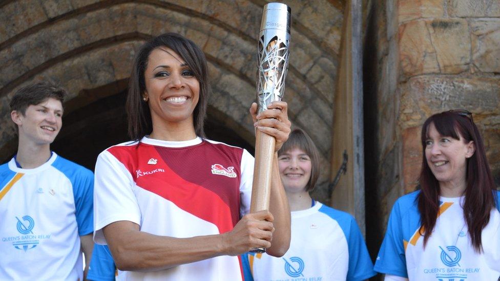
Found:
[[(138, 51), (126, 105), (134, 141), (106, 149), (95, 167), (94, 239), (108, 244), (120, 279), (238, 280), (237, 255), (288, 249), (277, 155), (270, 209), (248, 213), (254, 159), (205, 139), (209, 94), (206, 59), (191, 40), (161, 34)], [(276, 149), (290, 132), (286, 109), (275, 102), (257, 115), (251, 106)]]

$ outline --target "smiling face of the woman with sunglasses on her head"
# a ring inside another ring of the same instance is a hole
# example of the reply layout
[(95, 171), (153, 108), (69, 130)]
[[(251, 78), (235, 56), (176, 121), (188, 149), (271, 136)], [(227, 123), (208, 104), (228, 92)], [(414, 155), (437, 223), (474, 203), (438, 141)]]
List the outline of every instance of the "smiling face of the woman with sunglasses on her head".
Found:
[(443, 184), (464, 185), (467, 159), (474, 154), (474, 142), (466, 143), (460, 135), (460, 140), (442, 136), (434, 123), (429, 125), (427, 135), (425, 158), (440, 186)]

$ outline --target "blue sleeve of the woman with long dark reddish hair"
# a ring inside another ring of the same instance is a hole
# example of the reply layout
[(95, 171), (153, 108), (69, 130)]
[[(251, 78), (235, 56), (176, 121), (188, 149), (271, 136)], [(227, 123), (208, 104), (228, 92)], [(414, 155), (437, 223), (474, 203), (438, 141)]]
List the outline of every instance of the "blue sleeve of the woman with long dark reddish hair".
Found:
[(375, 271), (408, 278), (403, 239), (399, 201), (396, 201), (392, 207), (384, 241), (373, 268)]

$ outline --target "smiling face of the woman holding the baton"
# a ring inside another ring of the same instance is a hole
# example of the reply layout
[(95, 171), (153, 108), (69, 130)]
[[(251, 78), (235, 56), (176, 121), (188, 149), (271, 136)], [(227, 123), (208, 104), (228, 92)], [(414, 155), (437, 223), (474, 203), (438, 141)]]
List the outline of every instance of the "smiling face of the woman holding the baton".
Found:
[(198, 104), (200, 83), (185, 61), (167, 47), (154, 49), (144, 72), (146, 90), (155, 125), (166, 123), (193, 127), (193, 111)]

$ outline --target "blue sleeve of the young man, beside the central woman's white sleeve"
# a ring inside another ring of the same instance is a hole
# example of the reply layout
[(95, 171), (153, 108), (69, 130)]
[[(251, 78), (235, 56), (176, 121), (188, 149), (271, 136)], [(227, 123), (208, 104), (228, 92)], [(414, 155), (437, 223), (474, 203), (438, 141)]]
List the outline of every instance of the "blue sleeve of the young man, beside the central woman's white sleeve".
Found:
[(73, 182), (76, 223), (80, 236), (94, 232), (94, 174), (83, 170)]

